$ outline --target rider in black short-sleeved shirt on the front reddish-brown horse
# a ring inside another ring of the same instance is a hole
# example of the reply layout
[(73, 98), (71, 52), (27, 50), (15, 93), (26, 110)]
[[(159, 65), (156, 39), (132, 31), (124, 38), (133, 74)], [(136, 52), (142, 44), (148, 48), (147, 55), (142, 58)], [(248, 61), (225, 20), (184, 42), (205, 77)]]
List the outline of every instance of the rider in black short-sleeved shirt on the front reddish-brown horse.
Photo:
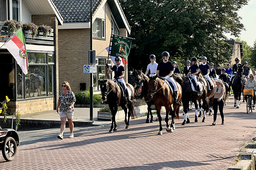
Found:
[(169, 57), (170, 57), (170, 55), (167, 51), (164, 51), (162, 53), (163, 61), (158, 63), (156, 73), (158, 74), (158, 76), (168, 80), (169, 82), (172, 82), (172, 84), (174, 86), (173, 104), (176, 105), (176, 106), (179, 106), (180, 102), (178, 102), (178, 100), (177, 100), (177, 90), (178, 89), (177, 89), (176, 82), (172, 77), (173, 64), (170, 61), (168, 61)]

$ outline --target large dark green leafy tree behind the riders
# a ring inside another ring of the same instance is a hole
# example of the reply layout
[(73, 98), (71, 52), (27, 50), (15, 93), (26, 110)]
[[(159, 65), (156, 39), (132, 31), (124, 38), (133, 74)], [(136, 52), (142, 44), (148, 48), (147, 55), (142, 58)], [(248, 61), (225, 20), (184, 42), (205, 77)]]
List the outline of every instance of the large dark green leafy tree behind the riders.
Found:
[[(119, 0), (131, 26), (134, 45), (129, 66), (146, 70), (148, 57), (157, 62), (168, 51), (170, 61), (186, 61), (192, 56), (206, 56), (208, 61), (230, 60), (232, 46), (224, 43), (224, 33), (238, 36), (244, 29), (237, 11), (248, 0)], [(228, 49), (228, 50), (227, 50)]]

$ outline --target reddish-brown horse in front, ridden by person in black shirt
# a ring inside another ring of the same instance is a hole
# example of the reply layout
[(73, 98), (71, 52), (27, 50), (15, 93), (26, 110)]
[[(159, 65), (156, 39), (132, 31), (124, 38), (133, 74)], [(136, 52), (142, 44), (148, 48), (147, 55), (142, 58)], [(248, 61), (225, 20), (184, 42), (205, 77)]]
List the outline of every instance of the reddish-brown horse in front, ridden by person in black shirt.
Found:
[[(181, 95), (182, 95), (182, 89), (180, 84), (176, 82), (177, 85), (177, 97), (178, 101), (181, 102)], [(158, 135), (162, 135), (162, 117), (161, 117), (161, 107), (164, 106), (166, 109), (166, 117), (165, 117), (165, 122), (166, 122), (166, 131), (167, 132), (173, 132), (175, 129), (175, 123), (174, 123), (174, 117), (175, 113), (177, 118), (179, 119), (179, 111), (180, 111), (180, 106), (173, 106), (172, 109), (172, 104), (173, 104), (173, 98), (172, 98), (172, 92), (168, 86), (168, 81), (164, 80), (163, 78), (159, 76), (152, 76), (149, 78), (148, 81), (148, 98), (153, 99), (154, 104), (156, 106), (156, 114), (158, 115), (158, 120), (159, 120), (159, 132)], [(168, 124), (169, 121), (169, 116), (172, 116), (172, 123), (171, 125)]]

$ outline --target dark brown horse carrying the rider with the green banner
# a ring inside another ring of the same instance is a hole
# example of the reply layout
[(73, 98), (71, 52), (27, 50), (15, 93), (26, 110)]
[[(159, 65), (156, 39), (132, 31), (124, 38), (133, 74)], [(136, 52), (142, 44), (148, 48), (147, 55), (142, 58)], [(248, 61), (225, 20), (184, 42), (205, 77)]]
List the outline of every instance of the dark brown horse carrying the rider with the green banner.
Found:
[[(122, 109), (124, 109), (124, 113), (125, 113), (124, 122), (126, 124), (125, 129), (129, 129), (130, 117), (134, 119), (134, 117), (137, 116), (135, 108), (133, 106), (133, 102), (130, 104), (127, 104), (127, 100), (122, 96), (122, 91), (117, 82), (114, 82), (113, 80), (109, 80), (109, 79), (99, 80), (99, 82), (100, 82), (100, 91), (102, 94), (102, 100), (107, 99), (108, 106), (112, 114), (112, 124), (109, 130), (109, 133), (113, 133), (114, 131), (117, 131), (116, 112), (119, 106), (121, 106)], [(135, 89), (131, 84), (126, 83), (126, 86), (131, 91), (131, 100), (133, 101), (135, 98)], [(126, 104), (128, 107), (128, 120), (127, 120), (127, 107), (125, 106)], [(113, 123), (114, 123), (114, 129), (113, 129)]]

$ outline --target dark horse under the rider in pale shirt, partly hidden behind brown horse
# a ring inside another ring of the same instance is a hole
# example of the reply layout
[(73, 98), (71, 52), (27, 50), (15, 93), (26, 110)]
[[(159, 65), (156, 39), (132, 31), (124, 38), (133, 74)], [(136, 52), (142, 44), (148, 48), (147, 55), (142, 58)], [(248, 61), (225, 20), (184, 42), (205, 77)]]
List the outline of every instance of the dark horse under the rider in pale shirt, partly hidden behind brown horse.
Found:
[[(135, 72), (135, 76), (136, 76), (136, 82), (142, 82), (143, 83), (143, 87), (142, 87), (142, 96), (144, 97), (144, 100), (146, 102), (146, 104), (148, 105), (148, 114), (147, 114), (147, 119), (146, 119), (146, 123), (153, 123), (153, 115), (152, 115), (152, 109), (151, 106), (152, 104), (154, 104), (153, 100), (150, 100), (148, 98), (148, 76), (146, 76), (146, 74), (144, 74), (141, 70), (136, 70)], [(149, 121), (149, 114), (150, 114), (150, 121)]]

